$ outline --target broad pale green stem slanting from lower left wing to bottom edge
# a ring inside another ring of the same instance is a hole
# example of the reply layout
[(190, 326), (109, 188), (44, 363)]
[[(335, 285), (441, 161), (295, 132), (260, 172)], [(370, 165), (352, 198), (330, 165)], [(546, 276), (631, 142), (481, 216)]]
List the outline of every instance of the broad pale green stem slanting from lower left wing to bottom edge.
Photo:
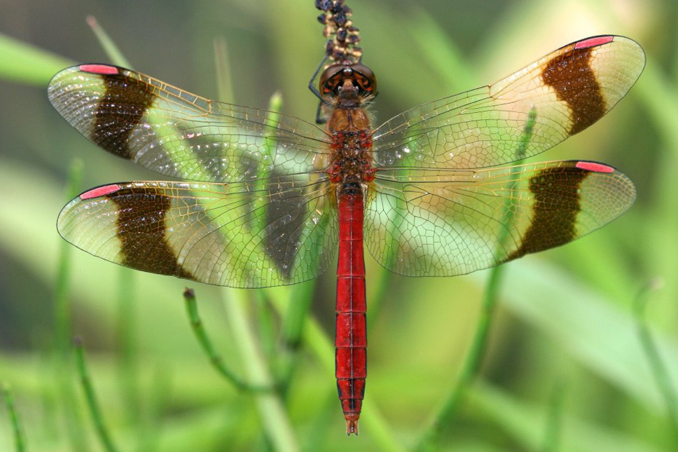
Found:
[[(247, 299), (243, 290), (224, 289), (224, 306), (228, 313), (235, 345), (253, 385), (270, 387), (272, 378), (256, 344), (254, 331), (251, 330), (245, 313)], [(276, 451), (298, 451), (296, 437), (284, 410), (282, 399), (275, 392), (254, 392), (263, 428)]]

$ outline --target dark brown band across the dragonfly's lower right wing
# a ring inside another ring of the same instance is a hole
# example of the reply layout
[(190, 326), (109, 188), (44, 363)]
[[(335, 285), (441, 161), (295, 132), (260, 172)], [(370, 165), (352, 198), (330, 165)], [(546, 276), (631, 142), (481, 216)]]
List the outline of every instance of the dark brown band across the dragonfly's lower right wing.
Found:
[(532, 223), (523, 236), (520, 248), (505, 261), (571, 242), (577, 236), (576, 217), (581, 210), (579, 187), (589, 171), (577, 167), (542, 170), (530, 178), (534, 196)]

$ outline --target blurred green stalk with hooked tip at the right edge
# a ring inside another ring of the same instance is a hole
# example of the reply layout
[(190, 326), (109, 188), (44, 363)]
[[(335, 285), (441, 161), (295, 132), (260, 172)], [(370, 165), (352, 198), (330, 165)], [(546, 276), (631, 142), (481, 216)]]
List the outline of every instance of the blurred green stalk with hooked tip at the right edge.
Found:
[(652, 376), (664, 398), (672, 427), (674, 444), (678, 444), (678, 397), (675, 388), (671, 384), (671, 377), (669, 376), (668, 369), (659, 354), (659, 349), (652, 337), (645, 318), (645, 308), (647, 306), (649, 294), (653, 292), (653, 290), (656, 290), (658, 286), (659, 283), (653, 280), (638, 292), (634, 302), (634, 311), (638, 324), (638, 339), (650, 364), (650, 368), (652, 369)]

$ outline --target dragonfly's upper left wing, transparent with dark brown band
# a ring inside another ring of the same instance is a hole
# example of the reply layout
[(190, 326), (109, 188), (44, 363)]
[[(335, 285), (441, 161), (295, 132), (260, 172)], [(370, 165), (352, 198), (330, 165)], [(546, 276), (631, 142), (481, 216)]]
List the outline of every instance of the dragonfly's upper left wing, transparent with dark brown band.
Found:
[(205, 182), (298, 174), (328, 163), (315, 125), (270, 111), (207, 100), (135, 71), (103, 64), (54, 76), (50, 102), (85, 137), (116, 156)]

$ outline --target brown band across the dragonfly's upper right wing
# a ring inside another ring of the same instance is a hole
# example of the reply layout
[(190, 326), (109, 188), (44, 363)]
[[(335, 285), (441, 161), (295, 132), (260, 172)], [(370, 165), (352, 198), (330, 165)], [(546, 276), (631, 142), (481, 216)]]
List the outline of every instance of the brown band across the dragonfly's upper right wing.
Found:
[(600, 84), (591, 67), (595, 48), (569, 50), (546, 63), (541, 78), (551, 86), (558, 100), (567, 103), (572, 115), (570, 135), (581, 132), (598, 121), (607, 107)]

